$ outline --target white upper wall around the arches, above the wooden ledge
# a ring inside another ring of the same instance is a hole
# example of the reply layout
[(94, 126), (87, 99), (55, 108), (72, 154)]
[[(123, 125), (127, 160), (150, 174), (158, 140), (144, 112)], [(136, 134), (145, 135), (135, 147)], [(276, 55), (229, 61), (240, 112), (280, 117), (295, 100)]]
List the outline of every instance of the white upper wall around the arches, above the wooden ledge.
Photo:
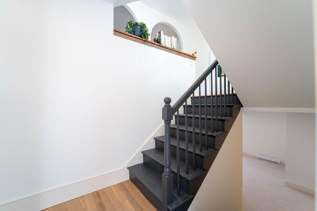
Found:
[[(170, 6), (162, 6), (162, 2)], [(187, 12), (187, 9), (182, 1), (135, 1), (127, 4), (127, 6), (130, 7), (139, 21), (146, 23), (150, 32), (152, 32), (153, 27), (158, 23), (167, 23), (174, 27), (174, 31), (178, 32), (178, 37), (180, 37), (182, 41), (182, 51), (190, 54), (197, 51), (196, 78), (201, 76), (201, 74), (215, 60), (208, 43), (195, 21)], [(173, 12), (169, 12), (171, 8), (173, 8)], [(175, 14), (176, 10), (177, 12), (182, 13), (185, 17), (183, 19), (179, 18), (176, 20), (176, 18), (172, 16)], [(205, 85), (203, 84), (203, 90), (204, 87)]]

